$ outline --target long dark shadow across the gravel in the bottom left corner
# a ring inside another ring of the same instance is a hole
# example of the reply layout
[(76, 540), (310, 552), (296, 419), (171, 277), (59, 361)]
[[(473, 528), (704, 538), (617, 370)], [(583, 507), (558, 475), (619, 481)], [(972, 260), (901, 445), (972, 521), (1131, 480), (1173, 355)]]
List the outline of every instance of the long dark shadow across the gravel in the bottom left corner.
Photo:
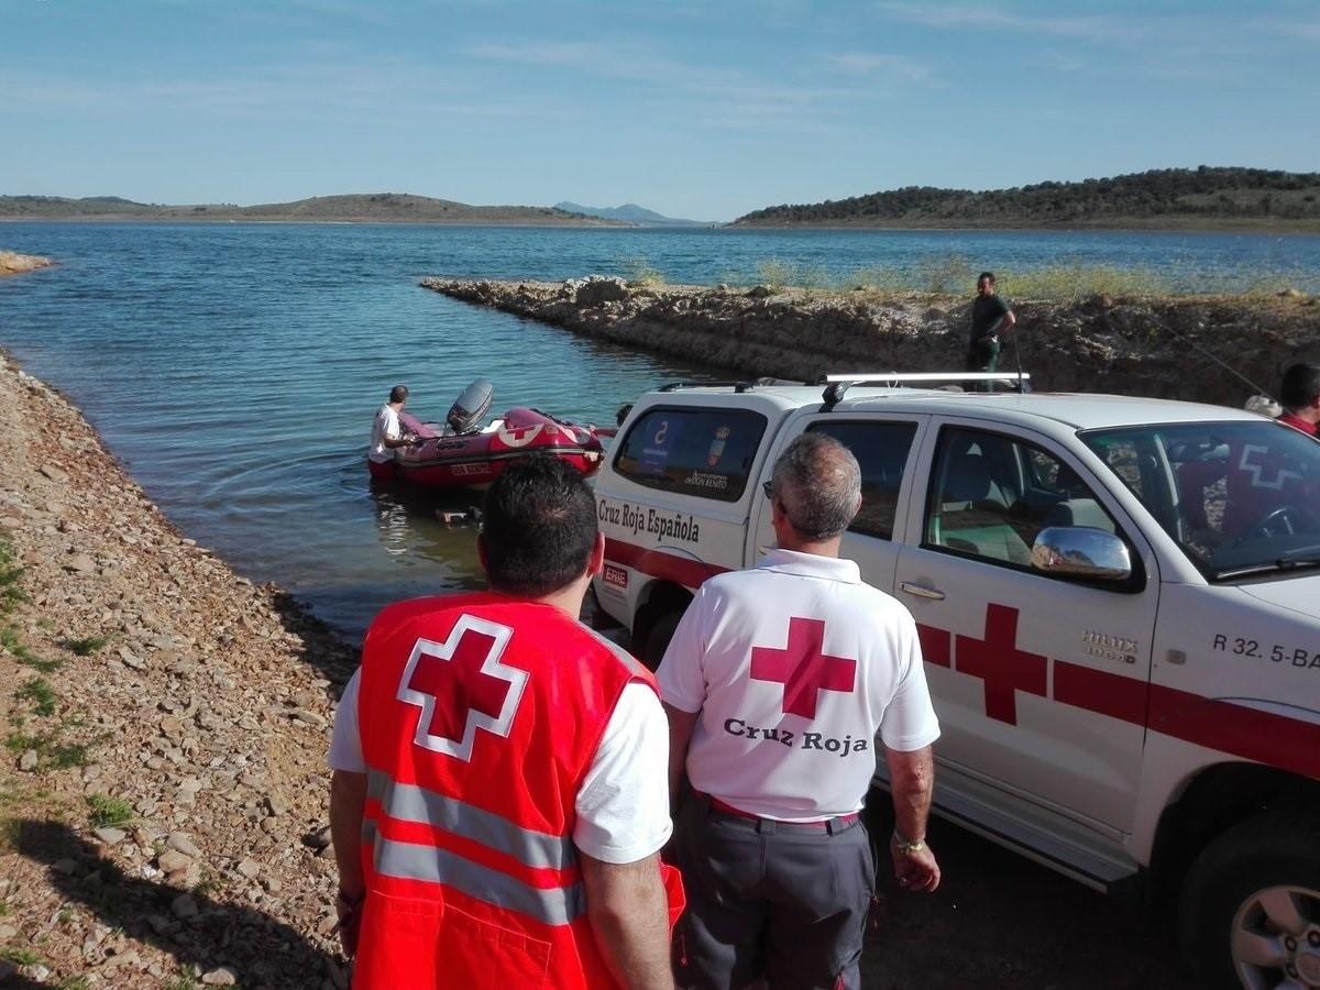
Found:
[[(50, 886), (66, 902), (88, 909), (111, 929), (169, 953), (180, 968), (206, 973), (228, 966), (239, 986), (272, 990), (317, 987), (327, 978), (343, 982), (338, 960), (263, 911), (190, 892), (197, 913), (178, 917), (174, 902), (183, 891), (124, 873), (67, 825), (22, 820), (17, 830), (18, 853), (46, 867)], [(102, 965), (98, 972), (108, 986), (128, 985), (140, 975), (132, 964), (119, 970)], [(15, 975), (5, 986), (38, 985)]]

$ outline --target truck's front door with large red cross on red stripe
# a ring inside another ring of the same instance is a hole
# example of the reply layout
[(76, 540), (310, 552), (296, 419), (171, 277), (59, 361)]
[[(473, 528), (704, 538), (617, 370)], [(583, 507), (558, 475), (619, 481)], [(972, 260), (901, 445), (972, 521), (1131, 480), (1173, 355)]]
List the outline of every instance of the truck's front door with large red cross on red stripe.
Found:
[[(942, 764), (995, 800), (1131, 830), (1159, 594), (1151, 549), (1084, 462), (1027, 430), (929, 432), (896, 594), (921, 634)], [(1126, 582), (1034, 570), (1045, 527), (1129, 544)]]

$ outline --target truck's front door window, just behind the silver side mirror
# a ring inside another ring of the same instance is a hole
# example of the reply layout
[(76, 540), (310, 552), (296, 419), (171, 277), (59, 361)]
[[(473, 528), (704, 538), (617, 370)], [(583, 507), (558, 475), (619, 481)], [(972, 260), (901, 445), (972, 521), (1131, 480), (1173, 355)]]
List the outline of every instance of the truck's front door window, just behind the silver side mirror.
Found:
[(1094, 492), (1048, 451), (979, 430), (940, 433), (924, 545), (1028, 568), (1052, 525), (1117, 533)]

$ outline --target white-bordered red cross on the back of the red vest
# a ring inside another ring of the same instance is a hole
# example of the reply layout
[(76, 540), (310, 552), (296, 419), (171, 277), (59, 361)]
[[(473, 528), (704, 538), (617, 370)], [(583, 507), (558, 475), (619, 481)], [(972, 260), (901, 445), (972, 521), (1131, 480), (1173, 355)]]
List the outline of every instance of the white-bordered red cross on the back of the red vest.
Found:
[(508, 737), (527, 671), (499, 661), (513, 630), (461, 615), (444, 643), (418, 639), (397, 698), (421, 709), (413, 742), (471, 760), (477, 730)]

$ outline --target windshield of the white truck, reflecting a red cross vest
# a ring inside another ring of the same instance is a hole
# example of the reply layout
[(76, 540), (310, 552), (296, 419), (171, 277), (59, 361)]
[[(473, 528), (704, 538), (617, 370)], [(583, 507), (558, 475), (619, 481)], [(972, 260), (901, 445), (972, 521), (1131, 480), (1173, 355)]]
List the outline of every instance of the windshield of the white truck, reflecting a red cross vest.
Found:
[(1239, 421), (1081, 438), (1212, 581), (1320, 568), (1320, 442), (1311, 437)]

